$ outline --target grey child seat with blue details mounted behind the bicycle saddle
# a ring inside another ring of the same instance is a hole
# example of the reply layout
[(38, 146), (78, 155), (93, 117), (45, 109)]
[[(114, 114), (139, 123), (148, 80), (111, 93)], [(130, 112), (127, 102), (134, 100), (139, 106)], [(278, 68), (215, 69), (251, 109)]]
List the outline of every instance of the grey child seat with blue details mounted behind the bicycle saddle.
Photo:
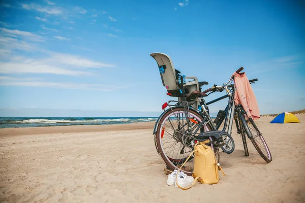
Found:
[[(161, 76), (161, 80), (163, 86), (167, 90), (167, 94), (169, 96), (178, 97), (178, 100), (185, 101), (186, 97), (193, 91), (198, 90), (201, 91), (201, 86), (204, 84), (208, 84), (207, 82), (198, 82), (198, 79), (193, 76), (186, 76), (184, 77), (186, 80), (193, 80), (193, 81), (185, 81), (177, 75), (180, 75), (180, 72), (177, 71), (174, 67), (174, 64), (171, 58), (164, 54), (164, 53), (151, 53), (151, 57), (153, 57), (159, 67), (159, 72)], [(181, 81), (179, 83), (178, 81)], [(193, 108), (197, 108), (198, 104), (194, 104)]]

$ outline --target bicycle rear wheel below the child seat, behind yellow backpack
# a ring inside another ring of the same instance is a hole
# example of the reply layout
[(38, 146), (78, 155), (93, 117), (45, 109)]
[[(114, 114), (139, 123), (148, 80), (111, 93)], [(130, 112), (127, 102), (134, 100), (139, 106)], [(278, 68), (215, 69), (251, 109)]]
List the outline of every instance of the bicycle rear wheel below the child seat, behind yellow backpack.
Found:
[[(160, 119), (155, 140), (158, 153), (172, 171), (178, 170), (186, 161), (190, 153), (194, 150), (192, 142), (200, 132), (211, 130), (211, 127), (202, 125), (194, 137), (188, 134), (187, 122), (190, 121), (191, 132), (194, 132), (203, 121), (203, 116), (190, 109), (189, 115), (185, 114), (183, 107), (174, 108), (168, 111)], [(181, 171), (191, 176), (194, 170), (194, 159), (189, 161), (181, 168)]]

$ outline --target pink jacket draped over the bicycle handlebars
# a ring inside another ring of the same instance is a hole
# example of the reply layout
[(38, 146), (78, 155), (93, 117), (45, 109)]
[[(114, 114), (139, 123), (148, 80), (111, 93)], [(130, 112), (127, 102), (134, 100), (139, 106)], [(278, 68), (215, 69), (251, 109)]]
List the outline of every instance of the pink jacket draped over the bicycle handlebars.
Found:
[(249, 83), (246, 73), (239, 75), (234, 73), (235, 83), (235, 104), (240, 104), (245, 109), (247, 116), (253, 120), (259, 119), (259, 109), (256, 101), (256, 97)]

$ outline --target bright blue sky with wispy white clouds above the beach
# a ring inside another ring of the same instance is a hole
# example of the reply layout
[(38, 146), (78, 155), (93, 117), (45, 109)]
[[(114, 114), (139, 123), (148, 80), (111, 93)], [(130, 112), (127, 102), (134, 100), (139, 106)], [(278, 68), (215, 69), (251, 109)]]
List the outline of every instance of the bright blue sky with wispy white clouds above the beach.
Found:
[(2, 1), (0, 113), (158, 116), (172, 97), (152, 52), (206, 88), (243, 66), (258, 78), (261, 114), (305, 109), (304, 4), (296, 2)]

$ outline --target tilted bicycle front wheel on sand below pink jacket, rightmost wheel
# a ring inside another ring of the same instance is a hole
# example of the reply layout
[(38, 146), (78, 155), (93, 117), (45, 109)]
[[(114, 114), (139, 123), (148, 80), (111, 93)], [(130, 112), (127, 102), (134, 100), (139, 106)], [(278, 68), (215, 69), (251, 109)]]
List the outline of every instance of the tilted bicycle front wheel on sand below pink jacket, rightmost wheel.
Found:
[[(255, 147), (255, 149), (257, 150), (257, 152), (259, 153), (259, 155), (267, 162), (270, 163), (272, 161), (272, 156), (271, 156), (271, 152), (267, 146), (266, 141), (264, 140), (262, 133), (259, 131), (258, 127), (256, 126), (256, 124), (254, 123), (252, 118), (249, 118), (245, 113), (240, 113), (240, 119), (242, 122), (243, 127), (245, 128), (245, 131), (248, 135), (248, 138), (251, 140), (253, 146)], [(246, 121), (246, 118), (248, 122)], [(252, 125), (253, 127), (249, 127), (249, 125)], [(256, 132), (257, 134), (253, 134), (251, 132), (251, 129), (254, 131), (254, 133)], [(256, 139), (259, 138), (259, 139)], [(263, 148), (265, 149), (265, 153), (262, 151), (262, 145), (260, 145), (259, 141), (262, 142), (263, 144)]]

